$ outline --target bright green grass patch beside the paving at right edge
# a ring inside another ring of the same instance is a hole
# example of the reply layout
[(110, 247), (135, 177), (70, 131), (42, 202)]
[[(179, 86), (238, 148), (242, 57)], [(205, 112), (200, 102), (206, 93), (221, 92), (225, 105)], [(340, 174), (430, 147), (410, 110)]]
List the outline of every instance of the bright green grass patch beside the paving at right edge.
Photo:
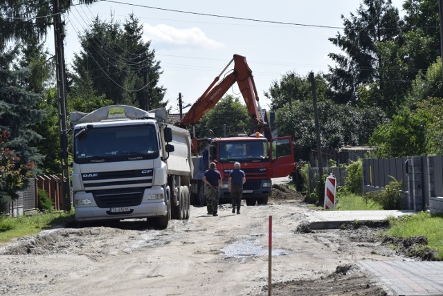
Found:
[(428, 239), (428, 248), (437, 251), (437, 259), (443, 260), (443, 215), (431, 215), (419, 212), (415, 215), (401, 216), (390, 219), (390, 228), (386, 235), (390, 237), (408, 238), (424, 236)]

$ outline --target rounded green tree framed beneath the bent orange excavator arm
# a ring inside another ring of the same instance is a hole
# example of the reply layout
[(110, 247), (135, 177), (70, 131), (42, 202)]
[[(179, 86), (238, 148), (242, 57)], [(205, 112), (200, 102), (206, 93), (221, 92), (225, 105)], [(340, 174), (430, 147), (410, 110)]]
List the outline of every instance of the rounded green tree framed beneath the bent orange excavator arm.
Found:
[(221, 98), (214, 109), (195, 124), (197, 138), (210, 137), (210, 130), (214, 132), (214, 136), (223, 137), (224, 124), (226, 124), (226, 136), (252, 133), (253, 121), (248, 115), (246, 106), (233, 95), (225, 95)]

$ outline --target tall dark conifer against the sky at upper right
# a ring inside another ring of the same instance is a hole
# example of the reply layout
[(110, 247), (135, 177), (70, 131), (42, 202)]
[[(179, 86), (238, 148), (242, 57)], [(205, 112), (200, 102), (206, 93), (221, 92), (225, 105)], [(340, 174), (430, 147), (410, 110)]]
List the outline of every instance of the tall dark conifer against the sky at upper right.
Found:
[[(344, 54), (329, 53), (336, 66), (329, 67), (327, 80), (336, 102), (358, 103), (357, 91), (365, 84), (385, 81), (379, 71), (381, 57), (377, 44), (395, 40), (401, 21), (390, 0), (363, 0), (350, 19), (343, 19), (343, 35), (329, 38)], [(381, 87), (383, 89), (383, 87)]]

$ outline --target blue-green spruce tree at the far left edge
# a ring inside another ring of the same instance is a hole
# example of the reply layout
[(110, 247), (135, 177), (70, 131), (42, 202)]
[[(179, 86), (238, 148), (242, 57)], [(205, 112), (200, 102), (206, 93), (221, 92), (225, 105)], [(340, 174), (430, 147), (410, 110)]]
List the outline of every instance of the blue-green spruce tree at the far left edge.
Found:
[(6, 199), (17, 197), (14, 192), (26, 184), (24, 176), (30, 169), (37, 169), (34, 163), (42, 161), (42, 155), (33, 146), (42, 138), (33, 130), (33, 125), (42, 120), (42, 111), (36, 108), (39, 95), (26, 90), (29, 71), (17, 66), (16, 57), (17, 49), (0, 55), (0, 132), (8, 135), (3, 137), (1, 151), (2, 161), (11, 165), (6, 165), (11, 172), (3, 173), (17, 175), (15, 181), (1, 185), (0, 194)]

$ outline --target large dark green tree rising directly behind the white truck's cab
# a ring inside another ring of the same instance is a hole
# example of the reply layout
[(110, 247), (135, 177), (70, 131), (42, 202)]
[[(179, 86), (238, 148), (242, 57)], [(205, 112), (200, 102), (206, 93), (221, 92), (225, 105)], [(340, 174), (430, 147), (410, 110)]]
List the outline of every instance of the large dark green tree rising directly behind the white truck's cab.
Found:
[[(123, 28), (114, 19), (93, 21), (80, 37), (82, 50), (75, 54), (73, 82), (92, 80), (98, 95), (106, 95), (114, 104), (128, 104), (145, 109), (165, 107), (161, 102), (165, 89), (156, 86), (161, 73), (154, 60), (150, 42), (143, 43), (142, 28), (134, 15), (129, 15)], [(149, 97), (148, 97), (149, 96)]]

